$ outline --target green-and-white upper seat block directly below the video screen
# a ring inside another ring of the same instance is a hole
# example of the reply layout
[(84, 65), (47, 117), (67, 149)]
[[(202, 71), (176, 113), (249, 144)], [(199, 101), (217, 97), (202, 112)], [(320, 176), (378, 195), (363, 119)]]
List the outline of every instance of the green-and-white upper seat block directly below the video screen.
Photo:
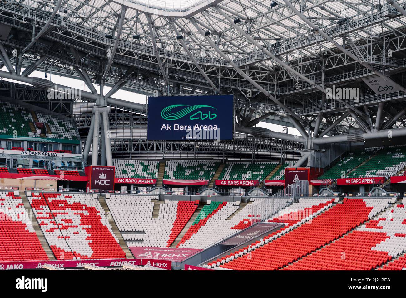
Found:
[(171, 159), (166, 162), (164, 179), (211, 180), (219, 165), (219, 161)]

